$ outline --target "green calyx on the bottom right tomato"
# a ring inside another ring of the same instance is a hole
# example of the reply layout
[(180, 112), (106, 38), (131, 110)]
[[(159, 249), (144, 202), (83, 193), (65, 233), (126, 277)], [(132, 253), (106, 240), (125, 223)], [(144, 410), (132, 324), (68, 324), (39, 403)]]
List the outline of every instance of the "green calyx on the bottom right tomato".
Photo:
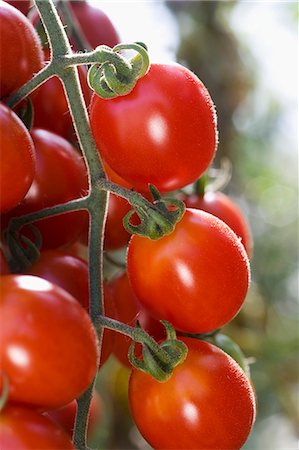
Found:
[[(151, 341), (142, 344), (142, 358), (139, 359), (134, 354), (135, 342), (129, 348), (128, 358), (136, 369), (150, 374), (160, 382), (167, 381), (174, 368), (181, 364), (187, 356), (187, 346), (176, 339), (173, 326), (161, 320), (166, 329), (166, 339), (158, 347), (152, 345)], [(137, 327), (139, 325), (137, 324)]]

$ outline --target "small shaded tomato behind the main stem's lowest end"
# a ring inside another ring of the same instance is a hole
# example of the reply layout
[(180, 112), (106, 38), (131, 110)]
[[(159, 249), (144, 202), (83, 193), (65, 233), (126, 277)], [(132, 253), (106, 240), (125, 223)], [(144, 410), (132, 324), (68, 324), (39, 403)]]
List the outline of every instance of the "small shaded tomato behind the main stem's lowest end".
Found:
[[(89, 410), (88, 434), (91, 434), (99, 425), (102, 415), (102, 399), (97, 391), (94, 391)], [(59, 409), (53, 409), (45, 413), (45, 416), (60, 425), (69, 436), (72, 437), (77, 413), (77, 401), (73, 400)]]

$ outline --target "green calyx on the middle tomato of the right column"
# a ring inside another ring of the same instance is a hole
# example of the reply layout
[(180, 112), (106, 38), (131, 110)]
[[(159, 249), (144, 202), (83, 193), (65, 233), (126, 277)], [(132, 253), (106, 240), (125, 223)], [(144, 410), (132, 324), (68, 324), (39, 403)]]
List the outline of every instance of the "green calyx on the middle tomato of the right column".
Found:
[[(135, 203), (132, 202), (134, 209), (124, 217), (123, 224), (129, 233), (157, 240), (173, 232), (185, 212), (185, 204), (177, 199), (162, 198), (153, 185), (150, 185), (149, 189), (153, 203), (137, 198)], [(130, 222), (134, 213), (137, 213), (140, 219), (138, 225)]]

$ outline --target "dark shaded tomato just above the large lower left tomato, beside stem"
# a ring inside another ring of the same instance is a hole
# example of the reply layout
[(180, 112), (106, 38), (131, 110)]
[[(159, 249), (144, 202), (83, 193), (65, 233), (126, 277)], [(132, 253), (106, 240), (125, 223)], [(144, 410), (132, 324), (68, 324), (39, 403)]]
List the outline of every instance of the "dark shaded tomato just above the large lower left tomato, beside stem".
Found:
[(66, 250), (45, 250), (24, 273), (44, 278), (69, 292), (88, 311), (88, 264)]

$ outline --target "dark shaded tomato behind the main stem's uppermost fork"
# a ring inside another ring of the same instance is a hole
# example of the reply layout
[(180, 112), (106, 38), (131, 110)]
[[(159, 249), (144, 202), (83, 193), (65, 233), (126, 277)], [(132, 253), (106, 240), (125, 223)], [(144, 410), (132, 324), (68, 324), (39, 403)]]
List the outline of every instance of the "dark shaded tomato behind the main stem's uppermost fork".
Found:
[[(50, 59), (49, 49), (44, 49), (45, 59)], [(91, 91), (86, 80), (86, 70), (78, 66), (79, 79), (86, 105), (89, 104)], [(66, 139), (74, 134), (73, 122), (64, 94), (62, 82), (58, 77), (52, 77), (40, 86), (32, 95), (34, 106), (34, 126), (45, 128)]]

